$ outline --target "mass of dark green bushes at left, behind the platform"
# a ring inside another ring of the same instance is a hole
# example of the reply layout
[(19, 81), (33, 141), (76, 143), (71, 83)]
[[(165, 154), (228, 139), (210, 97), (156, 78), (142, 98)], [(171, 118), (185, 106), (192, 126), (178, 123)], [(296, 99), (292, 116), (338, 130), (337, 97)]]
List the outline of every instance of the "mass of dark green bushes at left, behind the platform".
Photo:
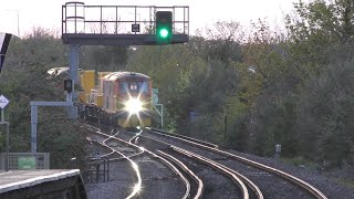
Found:
[[(49, 78), (46, 71), (67, 65), (65, 54), (67, 48), (62, 41), (42, 29), (11, 40), (0, 78), (0, 93), (10, 101), (6, 107), (10, 151), (30, 151), (31, 101), (64, 101), (63, 80)], [(1, 136), (0, 143), (3, 139)], [(83, 159), (83, 140), (80, 124), (67, 121), (62, 107), (39, 107), (38, 151), (51, 153), (51, 168), (67, 168), (73, 156)]]

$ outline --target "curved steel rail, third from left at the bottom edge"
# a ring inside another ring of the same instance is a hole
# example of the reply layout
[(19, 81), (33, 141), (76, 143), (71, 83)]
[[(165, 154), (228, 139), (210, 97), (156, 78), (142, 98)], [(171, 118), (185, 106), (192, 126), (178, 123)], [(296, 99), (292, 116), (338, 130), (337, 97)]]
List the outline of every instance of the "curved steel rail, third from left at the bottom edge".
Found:
[(181, 168), (185, 172), (187, 172), (190, 176), (190, 178), (192, 178), (198, 184), (198, 190), (197, 190), (197, 193), (194, 197), (194, 199), (200, 199), (202, 197), (202, 192), (204, 192), (202, 180), (192, 170), (190, 170), (184, 163), (181, 163), (180, 160), (178, 160), (174, 156), (166, 154), (162, 150), (157, 150), (157, 154), (159, 154), (160, 156), (164, 156), (165, 158), (169, 159), (170, 161), (174, 161), (176, 165), (179, 166), (179, 168)]

